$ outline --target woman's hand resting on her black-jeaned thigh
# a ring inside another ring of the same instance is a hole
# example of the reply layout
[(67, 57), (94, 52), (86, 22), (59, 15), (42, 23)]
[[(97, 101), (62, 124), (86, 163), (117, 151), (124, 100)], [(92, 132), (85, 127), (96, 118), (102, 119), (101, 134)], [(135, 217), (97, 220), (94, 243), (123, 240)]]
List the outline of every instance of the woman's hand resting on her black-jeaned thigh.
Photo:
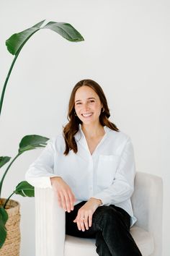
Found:
[(79, 230), (88, 230), (92, 225), (92, 216), (99, 207), (102, 205), (102, 201), (91, 197), (78, 211), (74, 223), (77, 223)]

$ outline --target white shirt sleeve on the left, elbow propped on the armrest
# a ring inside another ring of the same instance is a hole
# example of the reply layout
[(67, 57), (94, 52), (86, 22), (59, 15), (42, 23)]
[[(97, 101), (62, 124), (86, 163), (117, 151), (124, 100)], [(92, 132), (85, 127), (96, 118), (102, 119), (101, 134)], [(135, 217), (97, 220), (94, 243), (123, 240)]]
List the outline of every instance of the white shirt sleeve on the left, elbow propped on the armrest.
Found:
[(48, 145), (42, 150), (40, 156), (28, 168), (25, 179), (34, 187), (52, 187), (50, 177), (57, 176), (53, 174), (55, 146), (54, 139), (48, 141)]

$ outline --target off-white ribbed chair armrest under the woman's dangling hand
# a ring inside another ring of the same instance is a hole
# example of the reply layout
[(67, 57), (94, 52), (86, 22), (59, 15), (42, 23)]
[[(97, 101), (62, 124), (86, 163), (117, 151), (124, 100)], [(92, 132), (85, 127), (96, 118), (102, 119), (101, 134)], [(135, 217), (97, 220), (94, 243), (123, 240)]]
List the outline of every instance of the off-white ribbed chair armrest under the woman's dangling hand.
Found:
[(36, 256), (64, 255), (65, 222), (65, 211), (53, 189), (35, 188)]

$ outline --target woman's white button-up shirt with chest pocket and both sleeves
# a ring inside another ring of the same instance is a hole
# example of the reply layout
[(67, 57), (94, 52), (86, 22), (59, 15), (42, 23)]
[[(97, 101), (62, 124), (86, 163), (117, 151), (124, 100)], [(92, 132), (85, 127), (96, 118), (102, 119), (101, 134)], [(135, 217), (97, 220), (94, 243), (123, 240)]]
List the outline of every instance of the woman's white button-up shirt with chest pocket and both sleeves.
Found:
[(135, 161), (133, 145), (128, 135), (104, 127), (104, 137), (94, 153), (90, 153), (81, 124), (75, 135), (78, 152), (70, 150), (63, 135), (53, 137), (37, 160), (30, 165), (26, 180), (34, 187), (51, 187), (50, 177), (61, 176), (71, 187), (77, 203), (90, 197), (101, 199), (103, 205), (115, 205), (136, 218), (130, 197), (134, 189)]

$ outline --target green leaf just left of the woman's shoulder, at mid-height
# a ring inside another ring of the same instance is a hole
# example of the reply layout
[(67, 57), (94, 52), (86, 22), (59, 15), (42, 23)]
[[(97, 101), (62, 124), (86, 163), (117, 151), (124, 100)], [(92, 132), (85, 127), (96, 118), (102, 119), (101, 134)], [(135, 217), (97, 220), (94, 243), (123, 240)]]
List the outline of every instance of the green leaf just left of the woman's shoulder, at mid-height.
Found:
[(47, 145), (47, 137), (40, 135), (26, 135), (22, 138), (19, 143), (19, 153), (23, 153), (26, 150), (32, 150), (35, 148), (44, 148)]

